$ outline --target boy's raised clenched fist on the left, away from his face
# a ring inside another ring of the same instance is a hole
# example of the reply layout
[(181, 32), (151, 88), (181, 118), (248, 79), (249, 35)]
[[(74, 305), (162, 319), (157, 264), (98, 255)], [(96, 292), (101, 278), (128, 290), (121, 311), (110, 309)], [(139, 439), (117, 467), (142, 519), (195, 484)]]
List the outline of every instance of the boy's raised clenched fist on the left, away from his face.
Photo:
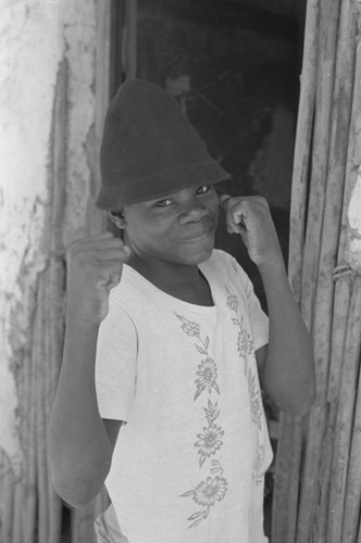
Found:
[(111, 232), (74, 241), (66, 255), (67, 318), (100, 324), (130, 249)]

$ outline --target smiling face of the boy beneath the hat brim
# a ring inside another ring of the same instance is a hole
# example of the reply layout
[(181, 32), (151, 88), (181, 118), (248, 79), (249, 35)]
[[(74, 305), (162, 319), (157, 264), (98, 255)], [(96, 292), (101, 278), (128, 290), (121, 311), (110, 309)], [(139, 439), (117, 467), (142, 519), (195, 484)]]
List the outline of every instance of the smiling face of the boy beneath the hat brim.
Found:
[(123, 211), (132, 249), (142, 260), (183, 265), (204, 262), (213, 250), (219, 209), (212, 185), (127, 205)]

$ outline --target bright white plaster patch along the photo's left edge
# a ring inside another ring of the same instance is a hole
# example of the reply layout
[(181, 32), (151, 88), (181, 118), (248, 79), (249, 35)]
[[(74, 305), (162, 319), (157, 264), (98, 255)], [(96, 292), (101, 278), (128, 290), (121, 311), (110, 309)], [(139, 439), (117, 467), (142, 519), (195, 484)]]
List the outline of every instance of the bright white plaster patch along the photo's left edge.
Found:
[[(30, 296), (43, 268), (40, 239), (58, 63), (60, 4), (2, 0), (0, 17), (0, 447), (17, 464), (14, 349), (27, 341)], [(22, 270), (26, 264), (26, 277)], [(17, 307), (14, 321), (12, 314)], [(18, 328), (14, 345), (12, 327)]]

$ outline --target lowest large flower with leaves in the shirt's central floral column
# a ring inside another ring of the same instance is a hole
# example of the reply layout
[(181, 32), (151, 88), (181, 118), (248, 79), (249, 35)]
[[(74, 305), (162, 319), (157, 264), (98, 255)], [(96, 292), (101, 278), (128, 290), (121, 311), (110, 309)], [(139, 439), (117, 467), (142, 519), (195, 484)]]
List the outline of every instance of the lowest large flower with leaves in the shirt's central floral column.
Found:
[(227, 492), (227, 481), (223, 476), (223, 468), (217, 460), (212, 460), (211, 473), (215, 477), (207, 477), (206, 480), (197, 484), (197, 487), (184, 494), (182, 497), (191, 496), (197, 505), (206, 507), (206, 509), (194, 513), (187, 520), (191, 522), (188, 528), (195, 528), (204, 520), (211, 507), (215, 502), (222, 502)]

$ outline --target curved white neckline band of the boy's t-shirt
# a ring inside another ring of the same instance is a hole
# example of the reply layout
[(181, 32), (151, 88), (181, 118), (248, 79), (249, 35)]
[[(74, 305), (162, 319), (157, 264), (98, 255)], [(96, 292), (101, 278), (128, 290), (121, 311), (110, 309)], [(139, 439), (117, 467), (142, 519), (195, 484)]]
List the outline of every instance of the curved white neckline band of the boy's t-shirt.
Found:
[(213, 300), (213, 305), (198, 305), (198, 304), (192, 304), (190, 302), (185, 302), (184, 300), (180, 300), (179, 298), (175, 298), (172, 294), (169, 294), (167, 292), (164, 292), (160, 288), (155, 287), (151, 281), (149, 281), (146, 277), (144, 277), (139, 272), (134, 269), (132, 266), (128, 264), (123, 265), (123, 273), (130, 274), (134, 278), (136, 278), (138, 281), (142, 282), (144, 285), (147, 286), (148, 289), (150, 289), (158, 298), (162, 298), (163, 300), (167, 300), (169, 302), (178, 305), (183, 308), (187, 308), (188, 311), (192, 311), (195, 313), (206, 313), (206, 314), (213, 314), (216, 311), (216, 292), (215, 292), (215, 286), (213, 281), (210, 278), (210, 275), (208, 274), (207, 269), (207, 262), (202, 262), (201, 264), (198, 265), (199, 270), (202, 273), (202, 275), (206, 277), (208, 285), (211, 290), (211, 295)]

